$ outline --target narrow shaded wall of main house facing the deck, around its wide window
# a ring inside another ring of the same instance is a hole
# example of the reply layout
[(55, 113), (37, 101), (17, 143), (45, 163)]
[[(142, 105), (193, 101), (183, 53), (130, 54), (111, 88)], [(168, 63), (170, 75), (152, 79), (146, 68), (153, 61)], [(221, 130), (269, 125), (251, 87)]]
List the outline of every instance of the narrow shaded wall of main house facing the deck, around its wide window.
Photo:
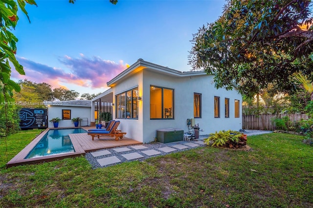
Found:
[(115, 105), (113, 106), (112, 118), (116, 121), (120, 121), (120, 125), (118, 129), (126, 132), (126, 137), (132, 138), (136, 141), (142, 142), (143, 137), (143, 113), (142, 113), (142, 101), (137, 101), (138, 104), (138, 119), (120, 119), (116, 118), (116, 102), (115, 95), (125, 92), (129, 89), (138, 86), (138, 95), (142, 96), (142, 71), (139, 71), (129, 77), (127, 79), (122, 80), (115, 86), (112, 86), (113, 92), (113, 101)]

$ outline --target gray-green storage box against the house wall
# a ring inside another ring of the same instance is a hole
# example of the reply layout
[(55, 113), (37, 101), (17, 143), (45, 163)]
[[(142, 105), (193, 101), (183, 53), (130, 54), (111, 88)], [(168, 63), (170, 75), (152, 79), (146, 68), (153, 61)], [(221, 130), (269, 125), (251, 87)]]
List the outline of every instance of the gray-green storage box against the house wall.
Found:
[(183, 141), (184, 131), (178, 128), (163, 128), (156, 130), (156, 141), (160, 143), (171, 143)]

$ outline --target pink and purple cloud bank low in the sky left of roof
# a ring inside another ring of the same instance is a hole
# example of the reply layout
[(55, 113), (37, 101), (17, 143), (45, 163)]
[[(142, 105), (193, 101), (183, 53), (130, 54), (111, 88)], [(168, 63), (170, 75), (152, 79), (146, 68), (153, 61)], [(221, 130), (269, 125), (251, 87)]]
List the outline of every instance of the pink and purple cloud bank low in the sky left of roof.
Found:
[(71, 83), (79, 86), (94, 88), (106, 87), (106, 83), (128, 67), (122, 61), (116, 63), (102, 60), (99, 57), (88, 58), (83, 54), (79, 58), (64, 56), (58, 60), (69, 69), (56, 68), (42, 63), (17, 57), (23, 65), (26, 75), (20, 75), (12, 70), (15, 79), (28, 79), (36, 83), (49, 83), (53, 87), (64, 87), (61, 83)]

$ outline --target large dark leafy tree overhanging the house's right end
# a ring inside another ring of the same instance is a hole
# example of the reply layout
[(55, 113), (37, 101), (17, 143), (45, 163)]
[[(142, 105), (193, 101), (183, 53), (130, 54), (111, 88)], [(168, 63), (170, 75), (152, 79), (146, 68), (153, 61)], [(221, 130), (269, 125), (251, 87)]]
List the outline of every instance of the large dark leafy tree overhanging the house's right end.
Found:
[(312, 78), (311, 0), (228, 0), (222, 16), (194, 34), (189, 64), (215, 73), (215, 86), (247, 96), (275, 86), (295, 92), (292, 74)]

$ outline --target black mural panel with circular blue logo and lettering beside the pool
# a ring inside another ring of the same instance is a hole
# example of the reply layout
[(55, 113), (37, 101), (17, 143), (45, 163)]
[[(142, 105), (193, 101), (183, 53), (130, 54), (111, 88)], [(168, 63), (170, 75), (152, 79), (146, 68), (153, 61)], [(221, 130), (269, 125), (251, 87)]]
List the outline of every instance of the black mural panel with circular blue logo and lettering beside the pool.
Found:
[(47, 128), (47, 109), (22, 108), (19, 112), (21, 129)]

